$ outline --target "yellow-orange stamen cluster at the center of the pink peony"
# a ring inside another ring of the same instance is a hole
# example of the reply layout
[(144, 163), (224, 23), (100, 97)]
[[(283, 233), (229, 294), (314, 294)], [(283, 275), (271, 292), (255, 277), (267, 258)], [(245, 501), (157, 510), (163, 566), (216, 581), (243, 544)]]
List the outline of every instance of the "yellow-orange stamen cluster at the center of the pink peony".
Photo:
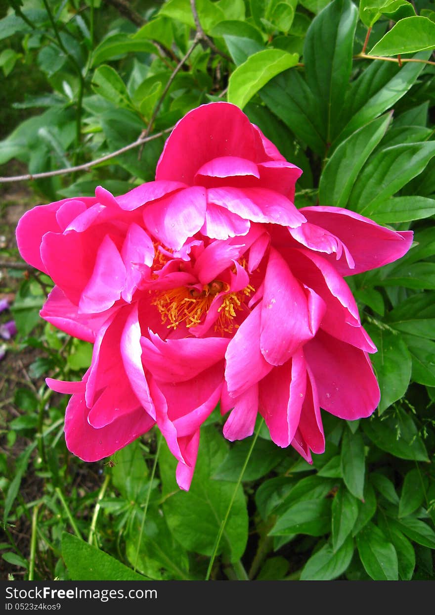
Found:
[[(175, 330), (183, 322), (189, 329), (202, 322), (215, 296), (222, 291), (228, 292), (229, 288), (229, 285), (221, 280), (213, 280), (203, 285), (202, 290), (188, 287), (171, 288), (155, 297), (152, 303), (159, 310), (162, 323), (169, 321), (168, 329)], [(243, 290), (223, 296), (222, 304), (218, 308), (218, 319), (214, 324), (215, 331), (223, 335), (225, 332), (232, 333), (233, 329), (238, 327), (233, 320), (237, 312), (243, 310), (246, 297), (249, 297), (253, 290), (254, 288), (248, 285)]]

